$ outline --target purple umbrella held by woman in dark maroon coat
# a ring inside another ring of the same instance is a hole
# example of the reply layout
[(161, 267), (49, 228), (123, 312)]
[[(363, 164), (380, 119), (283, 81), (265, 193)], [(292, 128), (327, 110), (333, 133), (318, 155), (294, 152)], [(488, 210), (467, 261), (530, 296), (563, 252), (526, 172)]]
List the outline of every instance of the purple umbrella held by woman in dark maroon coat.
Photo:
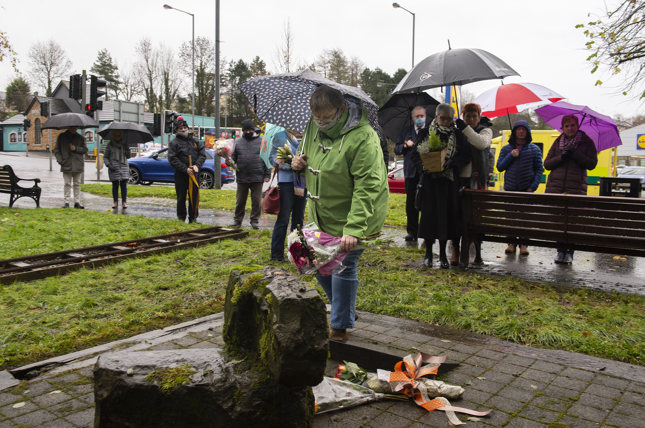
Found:
[(562, 132), (562, 116), (576, 115), (580, 121), (580, 129), (593, 140), (598, 151), (620, 146), (620, 135), (616, 122), (609, 116), (594, 112), (587, 106), (576, 106), (568, 102), (558, 101), (535, 109), (542, 120)]

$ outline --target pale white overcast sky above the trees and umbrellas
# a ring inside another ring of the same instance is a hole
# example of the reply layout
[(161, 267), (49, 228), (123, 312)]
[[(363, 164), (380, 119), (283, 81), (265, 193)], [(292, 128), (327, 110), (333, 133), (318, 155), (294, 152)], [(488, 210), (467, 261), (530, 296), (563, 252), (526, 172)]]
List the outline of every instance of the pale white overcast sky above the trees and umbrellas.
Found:
[[(170, 6), (195, 14), (195, 37), (215, 38), (214, 0), (165, 0)], [(607, 0), (609, 4), (617, 0)], [(0, 0), (0, 30), (18, 53), (19, 69), (28, 75), (26, 53), (35, 41), (53, 37), (74, 63), (74, 72), (89, 70), (97, 52), (107, 48), (118, 63), (133, 61), (141, 37), (179, 49), (190, 40), (191, 17), (165, 10), (155, 0), (66, 1)], [(582, 30), (588, 13), (604, 6), (602, 0), (427, 1), (400, 0), (416, 14), (415, 62), (452, 48), (479, 48), (506, 61), (521, 76), (504, 83), (536, 83), (607, 115), (645, 112), (640, 102), (625, 102), (610, 88), (608, 75), (591, 75)], [(80, 7), (79, 7), (80, 6)], [(75, 13), (78, 8), (82, 14)], [(410, 70), (412, 15), (384, 0), (222, 0), (221, 55), (250, 61), (259, 55), (272, 68), (275, 45), (281, 41), (289, 17), (295, 34), (295, 54), (306, 63), (324, 48), (341, 48), (357, 55), (370, 68), (393, 73)], [(15, 73), (0, 63), (0, 88)], [(479, 95), (499, 85), (484, 81), (464, 86)]]

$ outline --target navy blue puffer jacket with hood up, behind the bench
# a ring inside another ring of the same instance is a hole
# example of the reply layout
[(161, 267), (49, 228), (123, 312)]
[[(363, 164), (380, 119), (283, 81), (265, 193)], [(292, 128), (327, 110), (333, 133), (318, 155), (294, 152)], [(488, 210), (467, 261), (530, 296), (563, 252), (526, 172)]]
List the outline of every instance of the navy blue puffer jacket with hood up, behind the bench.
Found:
[[(526, 191), (528, 189), (537, 190), (542, 180), (544, 166), (542, 165), (542, 151), (531, 142), (531, 130), (528, 131), (526, 143), (520, 150), (518, 157), (513, 157), (511, 151), (517, 148), (515, 144), (515, 128), (524, 126), (515, 124), (508, 144), (502, 147), (497, 158), (497, 171), (506, 171), (504, 173), (504, 190), (506, 191)], [(528, 124), (524, 126), (528, 127)]]

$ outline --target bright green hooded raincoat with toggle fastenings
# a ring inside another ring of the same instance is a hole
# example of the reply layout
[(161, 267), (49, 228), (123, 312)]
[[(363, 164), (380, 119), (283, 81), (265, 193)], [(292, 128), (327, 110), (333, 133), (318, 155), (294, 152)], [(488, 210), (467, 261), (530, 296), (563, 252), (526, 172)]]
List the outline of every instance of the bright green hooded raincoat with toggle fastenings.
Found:
[[(348, 106), (339, 122), (330, 130), (320, 131), (310, 120), (307, 124), (303, 153), (309, 168), (303, 170), (310, 199), (310, 221), (332, 235), (366, 237), (381, 231), (388, 211), (390, 191), (381, 144), (361, 107), (361, 121), (343, 131)], [(323, 153), (322, 144), (326, 149)], [(331, 147), (331, 149), (328, 149)]]

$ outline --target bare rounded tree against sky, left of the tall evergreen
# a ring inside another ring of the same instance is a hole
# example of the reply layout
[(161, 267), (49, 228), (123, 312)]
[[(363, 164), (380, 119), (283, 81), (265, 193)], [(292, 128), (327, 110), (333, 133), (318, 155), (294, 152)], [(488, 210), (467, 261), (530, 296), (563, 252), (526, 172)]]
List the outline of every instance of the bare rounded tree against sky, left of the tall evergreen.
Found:
[(72, 61), (61, 45), (54, 39), (32, 44), (27, 53), (32, 66), (32, 79), (45, 89), (47, 97), (52, 96), (52, 86), (55, 81), (68, 77), (72, 68)]

